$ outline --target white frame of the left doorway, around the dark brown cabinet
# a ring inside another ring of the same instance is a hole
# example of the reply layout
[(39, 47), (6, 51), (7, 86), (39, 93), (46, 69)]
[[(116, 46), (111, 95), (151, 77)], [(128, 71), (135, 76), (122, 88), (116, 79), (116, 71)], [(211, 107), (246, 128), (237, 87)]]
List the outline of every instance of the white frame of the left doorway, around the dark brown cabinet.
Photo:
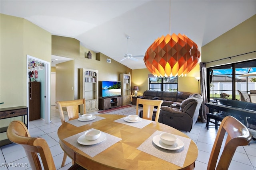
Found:
[[(38, 59), (36, 57), (32, 57), (30, 55), (27, 55), (27, 63), (29, 61), (36, 61), (38, 63), (42, 63), (44, 65), (44, 75), (42, 75), (43, 78), (43, 84), (41, 86), (41, 118), (43, 117), (45, 123), (50, 123), (50, 63), (41, 59)], [(27, 66), (27, 75), (28, 77), (29, 69)], [(27, 82), (30, 81), (30, 78), (28, 77)], [(29, 107), (29, 89), (28, 89), (28, 84), (27, 84), (27, 104)], [(42, 111), (43, 110), (43, 111)], [(29, 110), (28, 110), (29, 114)]]

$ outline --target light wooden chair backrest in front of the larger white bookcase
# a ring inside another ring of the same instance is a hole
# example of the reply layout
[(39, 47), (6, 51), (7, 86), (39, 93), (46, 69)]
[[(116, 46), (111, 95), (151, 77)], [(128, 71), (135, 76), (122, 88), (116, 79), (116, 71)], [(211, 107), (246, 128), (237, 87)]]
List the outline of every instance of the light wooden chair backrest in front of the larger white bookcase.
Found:
[[(78, 99), (78, 100), (69, 100), (69, 101), (57, 101), (55, 102), (58, 106), (59, 112), (60, 112), (60, 119), (61, 119), (61, 123), (63, 124), (65, 122), (65, 117), (63, 114), (63, 108), (62, 107), (66, 107), (67, 108), (67, 112), (68, 112), (68, 120), (72, 120), (72, 119), (77, 119), (79, 117), (79, 112), (78, 112), (78, 108), (79, 105), (84, 105), (84, 111), (85, 109), (85, 99)], [(85, 114), (85, 113), (83, 113)]]

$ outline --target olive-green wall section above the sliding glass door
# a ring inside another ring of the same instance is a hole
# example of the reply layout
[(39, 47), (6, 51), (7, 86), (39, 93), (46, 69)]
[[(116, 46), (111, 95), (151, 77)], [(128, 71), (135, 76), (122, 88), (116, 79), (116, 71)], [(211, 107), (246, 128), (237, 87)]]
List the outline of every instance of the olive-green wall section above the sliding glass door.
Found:
[[(220, 35), (202, 47), (202, 62), (211, 62), (227, 57), (256, 51), (256, 15)], [(207, 63), (206, 67), (236, 63), (255, 59), (256, 53), (250, 53), (231, 59)]]

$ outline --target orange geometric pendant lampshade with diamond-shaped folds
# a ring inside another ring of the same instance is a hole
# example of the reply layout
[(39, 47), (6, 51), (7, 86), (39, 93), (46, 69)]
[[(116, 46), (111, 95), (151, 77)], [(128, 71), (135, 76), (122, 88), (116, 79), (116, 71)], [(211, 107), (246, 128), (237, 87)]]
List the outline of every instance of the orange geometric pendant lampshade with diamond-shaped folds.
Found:
[(154, 41), (144, 63), (155, 77), (186, 76), (197, 64), (200, 51), (194, 41), (180, 33), (167, 34)]

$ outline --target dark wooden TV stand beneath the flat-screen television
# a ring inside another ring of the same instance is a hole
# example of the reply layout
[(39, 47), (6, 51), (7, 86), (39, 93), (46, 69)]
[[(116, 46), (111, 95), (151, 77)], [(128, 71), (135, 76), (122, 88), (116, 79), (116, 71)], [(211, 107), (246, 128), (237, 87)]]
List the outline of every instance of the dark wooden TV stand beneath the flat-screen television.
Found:
[(99, 109), (105, 110), (122, 106), (122, 96), (112, 98), (99, 98)]

